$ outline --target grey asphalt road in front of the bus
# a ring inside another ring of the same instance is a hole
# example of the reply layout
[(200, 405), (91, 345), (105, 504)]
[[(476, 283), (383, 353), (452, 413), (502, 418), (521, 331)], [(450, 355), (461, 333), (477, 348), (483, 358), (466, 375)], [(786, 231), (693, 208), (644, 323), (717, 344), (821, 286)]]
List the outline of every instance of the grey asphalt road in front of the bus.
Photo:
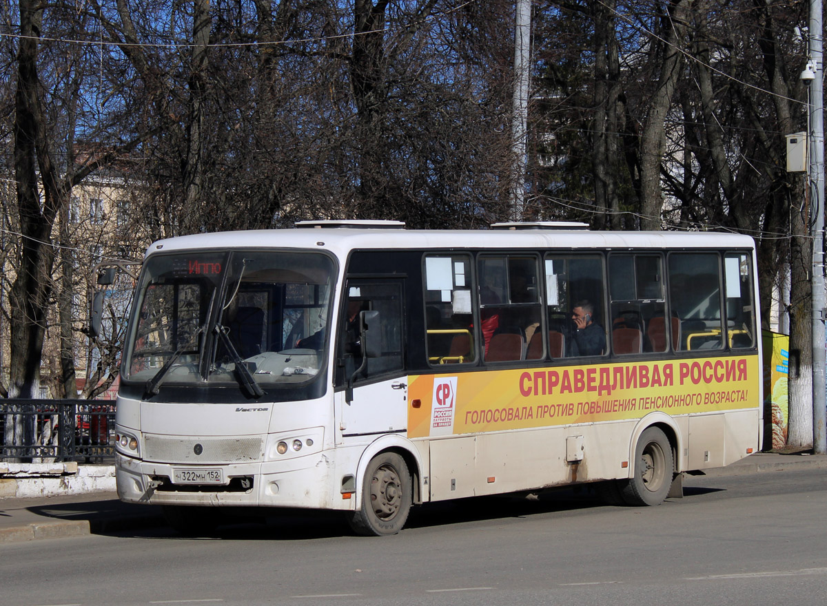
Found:
[(0, 604), (827, 604), (827, 472), (686, 482), (616, 508), (538, 501), (418, 508), (394, 537), (335, 515), (0, 545)]

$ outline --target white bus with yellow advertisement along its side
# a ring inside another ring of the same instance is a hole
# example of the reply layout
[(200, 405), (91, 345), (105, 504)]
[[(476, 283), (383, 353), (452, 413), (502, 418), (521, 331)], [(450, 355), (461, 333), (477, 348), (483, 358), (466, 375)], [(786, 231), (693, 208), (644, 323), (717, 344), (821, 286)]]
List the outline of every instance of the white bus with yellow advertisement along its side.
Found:
[[(533, 228), (528, 228), (533, 227)], [(661, 503), (761, 446), (753, 240), (397, 222), (151, 245), (117, 398), (117, 491), (179, 530), (592, 483)]]

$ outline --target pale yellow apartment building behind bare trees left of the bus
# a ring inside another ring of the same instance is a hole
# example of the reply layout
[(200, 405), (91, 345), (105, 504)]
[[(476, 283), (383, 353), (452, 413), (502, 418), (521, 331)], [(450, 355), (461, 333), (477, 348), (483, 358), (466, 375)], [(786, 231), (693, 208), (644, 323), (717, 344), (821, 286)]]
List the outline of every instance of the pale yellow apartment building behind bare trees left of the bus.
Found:
[[(7, 384), (9, 376), (9, 323), (15, 310), (10, 308), (8, 290), (16, 277), (15, 258), (21, 246), (17, 225), (16, 191), (13, 181), (3, 181), (2, 276), (0, 276), (0, 377)], [(101, 171), (74, 188), (68, 208), (60, 212), (52, 230), (55, 251), (52, 273), (52, 303), (47, 313), (47, 327), (41, 363), (42, 398), (61, 395), (60, 303), (69, 302), (71, 314), (71, 351), (74, 359), (76, 389), (85, 394), (91, 385), (108, 387), (98, 397), (114, 398), (109, 387), (117, 376), (119, 349), (117, 341), (129, 306), (132, 282), (122, 276), (112, 288), (104, 314), (104, 332), (99, 340), (85, 333), (88, 326), (89, 295), (97, 281), (96, 268), (111, 260), (140, 259), (149, 236), (143, 217), (148, 198), (146, 185), (127, 174)], [(103, 376), (98, 371), (103, 370)], [(112, 370), (112, 372), (110, 372)], [(74, 397), (75, 394), (67, 394)]]

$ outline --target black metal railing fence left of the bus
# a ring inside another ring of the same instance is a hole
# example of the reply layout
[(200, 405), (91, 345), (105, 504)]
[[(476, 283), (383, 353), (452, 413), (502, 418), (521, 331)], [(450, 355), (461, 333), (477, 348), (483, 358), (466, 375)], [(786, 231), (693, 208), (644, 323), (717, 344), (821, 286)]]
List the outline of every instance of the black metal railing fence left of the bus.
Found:
[(110, 400), (0, 399), (0, 460), (110, 463), (114, 432)]

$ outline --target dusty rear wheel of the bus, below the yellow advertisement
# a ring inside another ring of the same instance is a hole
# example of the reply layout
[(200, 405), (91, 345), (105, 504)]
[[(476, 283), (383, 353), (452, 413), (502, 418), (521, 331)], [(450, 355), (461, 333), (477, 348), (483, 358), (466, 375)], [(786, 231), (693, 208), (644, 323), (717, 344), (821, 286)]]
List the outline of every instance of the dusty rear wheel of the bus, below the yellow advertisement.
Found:
[(647, 427), (634, 449), (633, 475), (623, 488), (629, 505), (660, 505), (669, 494), (675, 470), (672, 445), (657, 427)]

